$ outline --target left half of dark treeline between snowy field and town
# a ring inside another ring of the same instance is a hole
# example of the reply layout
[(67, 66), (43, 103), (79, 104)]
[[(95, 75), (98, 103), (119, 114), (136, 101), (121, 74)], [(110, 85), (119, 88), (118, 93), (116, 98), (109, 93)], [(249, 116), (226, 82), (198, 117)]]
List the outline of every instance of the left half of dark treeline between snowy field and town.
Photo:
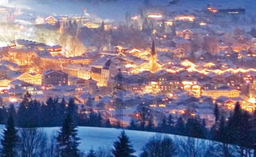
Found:
[(6, 110), (0, 110), (0, 120), (4, 123), (7, 119), (8, 112), (15, 119), (16, 126), (26, 128), (36, 128), (45, 126), (61, 126), (65, 115), (69, 113), (75, 125), (78, 126), (109, 126), (109, 121), (102, 120), (97, 112), (78, 113), (78, 106), (74, 99), (65, 102), (64, 99), (49, 98), (45, 103), (32, 100), (29, 93), (26, 93), (23, 101), (20, 103), (16, 112), (13, 105)]

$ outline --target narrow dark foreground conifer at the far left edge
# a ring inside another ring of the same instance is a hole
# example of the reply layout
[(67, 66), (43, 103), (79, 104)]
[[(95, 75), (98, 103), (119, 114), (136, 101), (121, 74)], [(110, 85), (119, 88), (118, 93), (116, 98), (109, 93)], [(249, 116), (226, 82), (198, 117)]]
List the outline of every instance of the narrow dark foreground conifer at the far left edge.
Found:
[(1, 139), (1, 156), (3, 157), (15, 157), (16, 146), (18, 142), (18, 135), (15, 129), (15, 123), (12, 115), (7, 120), (6, 129), (4, 130), (3, 139)]

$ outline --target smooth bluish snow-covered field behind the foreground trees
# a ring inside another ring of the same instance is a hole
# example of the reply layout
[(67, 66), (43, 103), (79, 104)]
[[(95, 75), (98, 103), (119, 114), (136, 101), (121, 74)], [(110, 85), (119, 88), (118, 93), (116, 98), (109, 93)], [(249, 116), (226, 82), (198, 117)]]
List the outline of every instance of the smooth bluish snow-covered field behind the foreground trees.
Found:
[[(3, 130), (3, 128), (4, 126), (0, 125), (1, 131)], [(59, 127), (43, 128), (43, 131), (48, 134), (48, 137), (50, 139), (53, 134), (58, 134)], [(79, 149), (85, 153), (89, 152), (89, 150), (91, 149), (98, 150), (99, 148), (104, 148), (108, 150), (113, 146), (113, 142), (118, 139), (121, 131), (122, 129), (78, 127), (78, 137), (80, 138)], [(140, 154), (143, 146), (146, 144), (148, 139), (157, 134), (147, 131), (125, 131), (133, 145), (133, 148), (136, 150), (137, 155)], [(175, 135), (168, 136), (172, 138), (175, 137)]]

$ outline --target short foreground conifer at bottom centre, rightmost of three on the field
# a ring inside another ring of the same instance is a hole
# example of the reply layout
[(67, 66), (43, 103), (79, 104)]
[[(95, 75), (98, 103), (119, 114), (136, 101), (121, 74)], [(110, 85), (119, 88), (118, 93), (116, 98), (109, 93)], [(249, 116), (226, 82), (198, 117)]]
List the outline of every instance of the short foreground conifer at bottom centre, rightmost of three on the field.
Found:
[(118, 140), (114, 142), (113, 146), (112, 153), (114, 157), (132, 157), (132, 153), (135, 153), (124, 131), (121, 132), (121, 135), (118, 137)]

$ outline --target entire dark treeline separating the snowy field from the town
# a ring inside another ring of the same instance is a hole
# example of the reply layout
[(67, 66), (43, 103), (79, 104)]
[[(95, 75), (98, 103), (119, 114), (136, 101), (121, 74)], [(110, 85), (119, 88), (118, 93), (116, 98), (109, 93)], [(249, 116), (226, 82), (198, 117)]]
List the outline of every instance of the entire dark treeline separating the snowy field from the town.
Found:
[[(215, 125), (211, 129), (206, 128), (205, 120), (196, 116), (188, 116), (186, 119), (174, 120), (172, 115), (162, 118), (155, 126), (153, 111), (145, 104), (138, 105), (137, 113), (132, 118), (127, 129), (140, 131), (156, 131), (167, 134), (177, 134), (187, 137), (211, 139), (222, 143), (223, 156), (229, 156), (232, 150), (230, 145), (237, 145), (241, 156), (250, 154), (256, 148), (256, 114), (241, 110), (237, 103), (234, 111), (227, 117), (221, 115), (216, 104), (214, 108)], [(74, 126), (111, 126), (110, 120), (103, 120), (98, 112), (80, 112), (73, 99), (65, 102), (64, 99), (49, 98), (45, 103), (31, 99), (29, 93), (24, 95), (18, 110), (13, 105), (0, 110), (0, 122), (7, 123), (12, 116), (15, 126), (20, 128), (38, 128), (46, 126), (62, 126), (64, 118), (69, 115)], [(255, 154), (256, 156), (256, 154)]]

